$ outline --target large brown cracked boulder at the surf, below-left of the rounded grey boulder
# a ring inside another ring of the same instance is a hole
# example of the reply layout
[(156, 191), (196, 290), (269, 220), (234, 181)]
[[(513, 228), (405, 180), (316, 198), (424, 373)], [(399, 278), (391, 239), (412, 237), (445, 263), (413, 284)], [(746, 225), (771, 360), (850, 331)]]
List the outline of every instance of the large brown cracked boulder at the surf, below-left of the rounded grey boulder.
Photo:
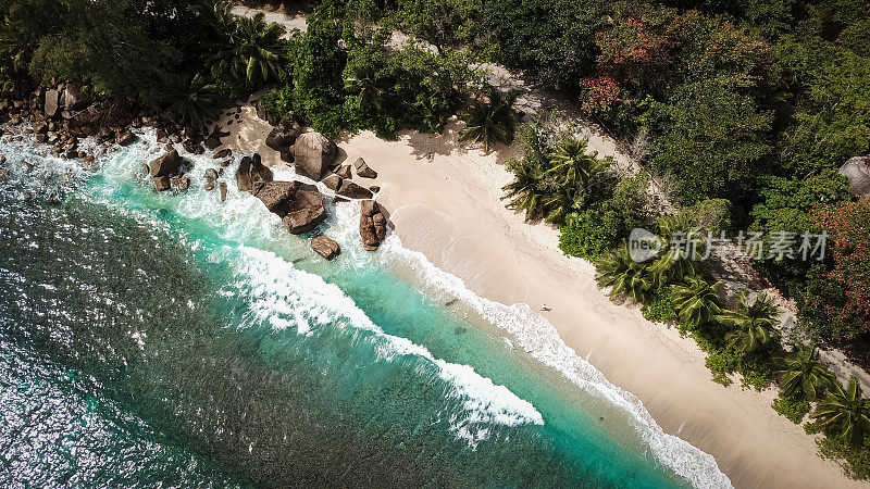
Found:
[(257, 198), (275, 213), (294, 235), (314, 229), (326, 220), (323, 196), (313, 185), (301, 181), (269, 181), (258, 185)]

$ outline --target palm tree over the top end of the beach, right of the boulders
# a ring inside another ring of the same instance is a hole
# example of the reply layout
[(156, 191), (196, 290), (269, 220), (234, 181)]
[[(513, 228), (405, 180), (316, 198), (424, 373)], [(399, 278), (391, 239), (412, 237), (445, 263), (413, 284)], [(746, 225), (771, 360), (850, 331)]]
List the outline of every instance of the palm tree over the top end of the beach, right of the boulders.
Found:
[(496, 141), (510, 143), (517, 124), (517, 114), (513, 112), (515, 99), (513, 93), (504, 96), (498, 90), (492, 90), (489, 103), (477, 102), (465, 112), (465, 128), (459, 133), (460, 139), (483, 142), (487, 153)]

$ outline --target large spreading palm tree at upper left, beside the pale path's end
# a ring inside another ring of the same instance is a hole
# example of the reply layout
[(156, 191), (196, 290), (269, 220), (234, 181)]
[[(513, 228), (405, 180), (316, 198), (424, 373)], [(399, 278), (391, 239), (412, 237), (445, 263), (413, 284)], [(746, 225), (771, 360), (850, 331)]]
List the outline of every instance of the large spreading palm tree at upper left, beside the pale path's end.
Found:
[(284, 27), (266, 24), (260, 12), (253, 17), (236, 17), (229, 42), (215, 54), (212, 70), (229, 72), (244, 79), (248, 87), (277, 78), (282, 66)]

